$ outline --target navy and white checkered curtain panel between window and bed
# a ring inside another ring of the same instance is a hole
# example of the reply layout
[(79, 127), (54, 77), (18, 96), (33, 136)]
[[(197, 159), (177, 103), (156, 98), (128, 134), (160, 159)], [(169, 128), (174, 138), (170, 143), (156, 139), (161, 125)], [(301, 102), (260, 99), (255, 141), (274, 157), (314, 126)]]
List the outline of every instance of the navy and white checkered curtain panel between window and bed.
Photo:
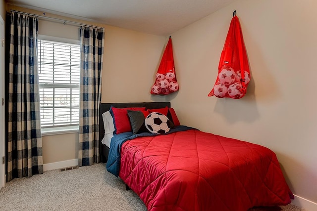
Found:
[(99, 104), (104, 54), (105, 30), (81, 28), (80, 104), (78, 165), (100, 162)]

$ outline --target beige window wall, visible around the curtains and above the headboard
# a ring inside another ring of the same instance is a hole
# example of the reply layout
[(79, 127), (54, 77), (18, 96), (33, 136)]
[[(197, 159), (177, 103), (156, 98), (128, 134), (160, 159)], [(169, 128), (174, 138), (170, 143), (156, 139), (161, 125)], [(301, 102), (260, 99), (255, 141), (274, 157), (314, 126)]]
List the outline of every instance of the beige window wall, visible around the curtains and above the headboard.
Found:
[[(39, 11), (8, 5), (7, 10), (10, 9), (43, 15)], [(150, 88), (168, 38), (100, 23), (47, 15), (105, 27), (103, 102), (165, 101), (164, 96), (152, 97)], [(78, 26), (64, 25), (62, 22), (52, 22), (41, 18), (39, 35), (80, 40)], [(43, 136), (42, 145), (44, 164), (78, 158), (78, 133)]]

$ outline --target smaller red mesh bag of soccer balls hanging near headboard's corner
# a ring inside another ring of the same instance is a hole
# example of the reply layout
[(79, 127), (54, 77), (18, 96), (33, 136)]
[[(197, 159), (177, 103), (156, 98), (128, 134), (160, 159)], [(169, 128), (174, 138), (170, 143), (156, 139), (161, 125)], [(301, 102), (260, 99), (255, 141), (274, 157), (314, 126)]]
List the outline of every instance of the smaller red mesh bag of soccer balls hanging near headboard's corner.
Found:
[(155, 83), (151, 88), (151, 94), (170, 94), (179, 89), (177, 83), (174, 58), (173, 58), (173, 48), (172, 39), (169, 37), (166, 48), (164, 50), (162, 60), (159, 64), (159, 69), (156, 74)]

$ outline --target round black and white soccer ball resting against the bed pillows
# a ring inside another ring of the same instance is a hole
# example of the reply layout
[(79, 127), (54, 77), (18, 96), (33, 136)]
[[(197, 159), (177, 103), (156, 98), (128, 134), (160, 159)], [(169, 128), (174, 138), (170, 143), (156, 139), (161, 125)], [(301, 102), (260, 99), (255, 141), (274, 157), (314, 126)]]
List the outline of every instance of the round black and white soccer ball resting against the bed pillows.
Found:
[(168, 118), (158, 112), (152, 112), (145, 119), (145, 127), (152, 133), (164, 134), (170, 130)]

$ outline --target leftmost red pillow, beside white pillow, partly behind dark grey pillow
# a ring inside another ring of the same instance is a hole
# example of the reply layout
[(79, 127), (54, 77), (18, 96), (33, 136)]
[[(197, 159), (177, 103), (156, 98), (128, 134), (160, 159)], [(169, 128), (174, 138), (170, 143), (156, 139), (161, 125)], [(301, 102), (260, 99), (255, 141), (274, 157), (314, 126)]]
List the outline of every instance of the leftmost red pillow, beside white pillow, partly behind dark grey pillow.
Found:
[(114, 131), (113, 133), (119, 134), (121, 132), (132, 131), (128, 111), (145, 111), (145, 107), (129, 107), (129, 108), (110, 108), (110, 114), (113, 117)]

